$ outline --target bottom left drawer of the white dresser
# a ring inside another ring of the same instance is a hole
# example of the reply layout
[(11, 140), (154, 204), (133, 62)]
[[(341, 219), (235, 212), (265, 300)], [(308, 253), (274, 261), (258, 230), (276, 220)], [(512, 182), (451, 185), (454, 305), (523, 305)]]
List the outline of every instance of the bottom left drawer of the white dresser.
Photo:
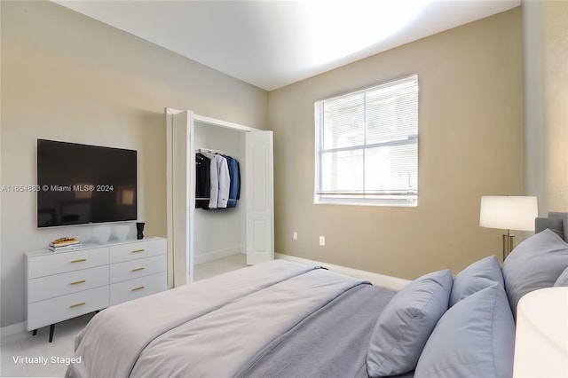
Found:
[(28, 304), (28, 331), (108, 307), (108, 286)]

